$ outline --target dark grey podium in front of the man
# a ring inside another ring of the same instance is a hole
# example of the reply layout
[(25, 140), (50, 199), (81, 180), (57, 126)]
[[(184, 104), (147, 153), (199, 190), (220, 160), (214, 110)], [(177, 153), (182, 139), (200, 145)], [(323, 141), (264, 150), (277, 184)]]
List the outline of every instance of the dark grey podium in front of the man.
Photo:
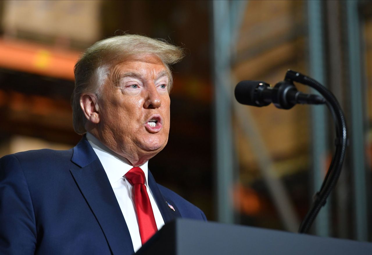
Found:
[(136, 255), (371, 255), (372, 243), (216, 222), (176, 219)]

